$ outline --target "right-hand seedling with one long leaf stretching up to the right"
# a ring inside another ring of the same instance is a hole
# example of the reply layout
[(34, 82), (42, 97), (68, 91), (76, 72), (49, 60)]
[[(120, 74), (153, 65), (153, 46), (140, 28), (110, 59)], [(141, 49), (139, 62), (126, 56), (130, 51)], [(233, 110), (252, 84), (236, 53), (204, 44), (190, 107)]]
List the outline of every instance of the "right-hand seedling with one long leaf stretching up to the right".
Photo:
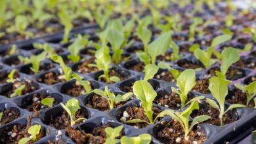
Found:
[(209, 67), (211, 67), (211, 65), (213, 65), (213, 63), (217, 62), (217, 60), (211, 58), (212, 54), (218, 53), (214, 49), (215, 46), (220, 45), (221, 43), (224, 43), (226, 41), (229, 41), (231, 38), (232, 36), (230, 35), (220, 35), (218, 37), (215, 37), (211, 42), (211, 46), (207, 48), (206, 51), (200, 49), (199, 46), (196, 46), (196, 45), (191, 49), (194, 49), (194, 56), (196, 56), (196, 58), (203, 63), (203, 66), (205, 67), (205, 69), (208, 69)]

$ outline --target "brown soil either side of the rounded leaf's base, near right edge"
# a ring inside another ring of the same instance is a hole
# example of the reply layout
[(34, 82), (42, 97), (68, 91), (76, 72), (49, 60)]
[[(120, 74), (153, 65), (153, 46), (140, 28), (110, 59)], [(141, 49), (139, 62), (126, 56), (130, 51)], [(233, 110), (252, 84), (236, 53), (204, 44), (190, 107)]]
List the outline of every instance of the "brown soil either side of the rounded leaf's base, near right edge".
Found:
[[(212, 69), (209, 69), (208, 74), (211, 75), (211, 77), (216, 76), (215, 71), (220, 71), (219, 67), (214, 67)], [(244, 77), (243, 70), (236, 67), (229, 67), (228, 71), (226, 72), (226, 79), (235, 81), (237, 79), (240, 79)]]

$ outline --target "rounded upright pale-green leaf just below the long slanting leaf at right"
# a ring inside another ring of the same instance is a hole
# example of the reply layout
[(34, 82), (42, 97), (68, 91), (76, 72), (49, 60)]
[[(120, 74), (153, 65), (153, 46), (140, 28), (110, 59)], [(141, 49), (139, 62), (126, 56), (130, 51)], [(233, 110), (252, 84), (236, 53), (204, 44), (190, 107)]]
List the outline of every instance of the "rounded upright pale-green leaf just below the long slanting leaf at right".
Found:
[(238, 62), (240, 56), (235, 48), (224, 48), (221, 52), (221, 73), (226, 75), (226, 71), (233, 63)]

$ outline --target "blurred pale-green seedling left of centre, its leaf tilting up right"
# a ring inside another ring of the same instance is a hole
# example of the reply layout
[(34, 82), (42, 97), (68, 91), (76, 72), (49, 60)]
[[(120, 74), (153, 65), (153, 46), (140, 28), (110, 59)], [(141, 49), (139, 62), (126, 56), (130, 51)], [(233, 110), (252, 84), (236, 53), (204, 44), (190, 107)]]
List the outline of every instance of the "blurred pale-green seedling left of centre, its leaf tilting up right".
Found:
[(79, 62), (80, 56), (79, 51), (88, 44), (88, 40), (82, 37), (82, 35), (78, 35), (72, 45), (68, 46), (68, 51), (70, 51), (70, 55), (68, 55), (68, 59), (72, 60), (72, 62)]

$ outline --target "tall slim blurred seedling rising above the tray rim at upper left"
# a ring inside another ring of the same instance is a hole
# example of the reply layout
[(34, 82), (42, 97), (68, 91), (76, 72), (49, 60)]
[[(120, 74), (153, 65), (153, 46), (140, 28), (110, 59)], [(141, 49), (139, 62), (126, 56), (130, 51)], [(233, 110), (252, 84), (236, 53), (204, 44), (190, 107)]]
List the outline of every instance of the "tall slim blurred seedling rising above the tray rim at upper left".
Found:
[(65, 27), (62, 43), (68, 43), (68, 35), (73, 28), (72, 16), (66, 10), (62, 9), (58, 12), (58, 17), (60, 18), (60, 23)]

